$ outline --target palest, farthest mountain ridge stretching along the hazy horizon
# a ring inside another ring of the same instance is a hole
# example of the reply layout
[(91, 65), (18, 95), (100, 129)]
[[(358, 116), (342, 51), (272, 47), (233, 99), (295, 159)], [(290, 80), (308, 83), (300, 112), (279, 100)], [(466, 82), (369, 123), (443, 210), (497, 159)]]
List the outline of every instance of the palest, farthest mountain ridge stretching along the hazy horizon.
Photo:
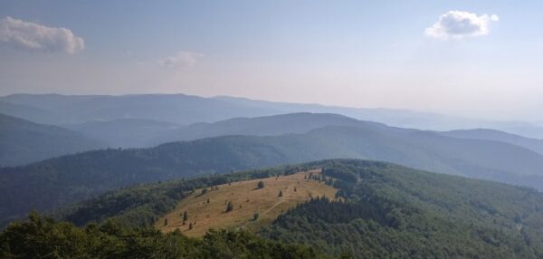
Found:
[[(204, 98), (185, 94), (120, 96), (14, 94), (0, 97), (0, 112), (53, 125), (120, 119), (158, 120), (190, 125), (236, 117), (253, 118), (295, 112), (336, 113), (357, 120), (376, 121), (401, 128), (431, 130), (488, 128), (543, 139), (543, 126), (526, 122), (473, 120), (413, 110), (359, 109), (226, 96)], [(40, 115), (37, 116), (36, 113)]]

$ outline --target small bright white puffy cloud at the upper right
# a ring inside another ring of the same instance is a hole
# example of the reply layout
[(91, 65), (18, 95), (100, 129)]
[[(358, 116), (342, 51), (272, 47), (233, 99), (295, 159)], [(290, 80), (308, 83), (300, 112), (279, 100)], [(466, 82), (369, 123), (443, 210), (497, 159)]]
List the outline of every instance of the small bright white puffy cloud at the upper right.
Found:
[(498, 22), (496, 14), (472, 14), (462, 11), (449, 11), (439, 16), (437, 23), (426, 28), (424, 34), (440, 39), (463, 39), (489, 34), (489, 24)]

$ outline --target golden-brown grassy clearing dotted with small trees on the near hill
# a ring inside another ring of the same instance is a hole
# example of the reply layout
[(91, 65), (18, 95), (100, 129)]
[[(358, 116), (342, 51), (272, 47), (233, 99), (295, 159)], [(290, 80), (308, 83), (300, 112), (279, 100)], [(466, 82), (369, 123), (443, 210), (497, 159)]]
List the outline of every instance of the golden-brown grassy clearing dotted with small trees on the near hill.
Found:
[[(202, 236), (210, 228), (242, 227), (256, 231), (262, 225), (271, 224), (289, 208), (308, 201), (310, 197), (336, 195), (337, 189), (324, 182), (304, 178), (310, 173), (320, 174), (320, 171), (234, 182), (217, 186), (218, 189), (208, 187), (205, 194), (202, 194), (202, 189), (198, 189), (182, 199), (174, 211), (158, 219), (155, 226), (164, 232), (179, 229), (189, 236)], [(264, 183), (263, 188), (257, 187), (259, 181)], [(279, 197), (280, 191), (282, 197)], [(233, 210), (225, 212), (229, 202), (232, 202)], [(188, 218), (184, 225), (185, 211)], [(259, 214), (256, 220), (253, 219), (255, 213)], [(190, 224), (192, 229), (189, 229)]]

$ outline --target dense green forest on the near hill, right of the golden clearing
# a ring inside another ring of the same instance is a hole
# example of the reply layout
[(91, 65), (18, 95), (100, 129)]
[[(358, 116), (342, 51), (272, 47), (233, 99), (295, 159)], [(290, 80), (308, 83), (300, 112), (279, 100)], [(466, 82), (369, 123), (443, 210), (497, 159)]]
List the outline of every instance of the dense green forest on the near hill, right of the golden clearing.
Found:
[(343, 202), (319, 197), (261, 235), (359, 258), (541, 258), (538, 191), (367, 161), (330, 161)]

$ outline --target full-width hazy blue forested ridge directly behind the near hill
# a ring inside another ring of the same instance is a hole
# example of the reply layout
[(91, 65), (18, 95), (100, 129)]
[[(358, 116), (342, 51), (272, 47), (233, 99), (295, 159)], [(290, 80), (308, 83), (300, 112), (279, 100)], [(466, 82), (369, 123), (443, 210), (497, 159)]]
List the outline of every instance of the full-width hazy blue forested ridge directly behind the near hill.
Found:
[(507, 143), (420, 130), (325, 127), (276, 137), (226, 136), (152, 149), (106, 149), (0, 169), (0, 218), (157, 180), (324, 158), (369, 158), (434, 172), (543, 187), (543, 157)]

